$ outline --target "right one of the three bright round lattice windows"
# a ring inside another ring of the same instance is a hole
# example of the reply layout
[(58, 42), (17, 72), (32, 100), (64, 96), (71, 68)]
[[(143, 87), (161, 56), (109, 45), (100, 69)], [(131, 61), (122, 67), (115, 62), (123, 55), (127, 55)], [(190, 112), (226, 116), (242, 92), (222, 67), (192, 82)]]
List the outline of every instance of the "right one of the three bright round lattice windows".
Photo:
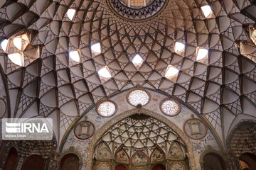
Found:
[(165, 115), (174, 116), (181, 112), (181, 104), (171, 98), (166, 98), (160, 104), (161, 112)]

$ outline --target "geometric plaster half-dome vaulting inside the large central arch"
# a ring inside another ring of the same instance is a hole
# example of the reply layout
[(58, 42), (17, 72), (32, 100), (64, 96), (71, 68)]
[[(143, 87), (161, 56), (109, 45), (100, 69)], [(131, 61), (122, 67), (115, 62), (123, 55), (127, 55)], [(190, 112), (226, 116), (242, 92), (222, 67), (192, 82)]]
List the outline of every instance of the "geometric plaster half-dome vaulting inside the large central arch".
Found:
[(101, 142), (110, 147), (113, 155), (119, 149), (124, 149), (128, 157), (138, 151), (150, 157), (156, 146), (166, 155), (173, 146), (181, 148), (182, 156), (186, 152), (183, 143), (171, 128), (147, 115), (132, 115), (121, 120), (105, 132)]

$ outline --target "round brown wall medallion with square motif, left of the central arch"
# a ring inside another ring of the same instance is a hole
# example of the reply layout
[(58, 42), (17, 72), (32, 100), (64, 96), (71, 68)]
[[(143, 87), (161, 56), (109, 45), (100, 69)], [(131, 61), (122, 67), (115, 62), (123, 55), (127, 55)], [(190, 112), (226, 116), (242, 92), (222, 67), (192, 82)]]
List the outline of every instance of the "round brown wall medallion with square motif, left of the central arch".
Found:
[(81, 121), (74, 128), (75, 136), (80, 140), (87, 140), (95, 132), (95, 126), (89, 121)]

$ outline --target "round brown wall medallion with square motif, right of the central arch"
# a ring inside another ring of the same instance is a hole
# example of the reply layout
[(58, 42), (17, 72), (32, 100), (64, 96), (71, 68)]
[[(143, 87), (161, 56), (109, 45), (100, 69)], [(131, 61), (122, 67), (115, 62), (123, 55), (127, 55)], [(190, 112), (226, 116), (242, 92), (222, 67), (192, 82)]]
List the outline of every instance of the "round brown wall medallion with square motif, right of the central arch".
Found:
[(183, 126), (185, 134), (193, 140), (201, 140), (207, 134), (207, 127), (202, 120), (193, 118), (186, 121)]

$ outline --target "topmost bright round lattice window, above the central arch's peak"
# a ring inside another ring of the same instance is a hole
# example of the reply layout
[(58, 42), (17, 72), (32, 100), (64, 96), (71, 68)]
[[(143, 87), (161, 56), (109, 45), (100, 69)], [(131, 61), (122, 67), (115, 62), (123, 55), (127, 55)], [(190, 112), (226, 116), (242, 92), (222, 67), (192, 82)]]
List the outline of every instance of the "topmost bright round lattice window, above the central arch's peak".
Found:
[(132, 106), (145, 106), (147, 103), (149, 103), (149, 100), (149, 93), (144, 89), (135, 89), (130, 91), (127, 96), (127, 101)]

